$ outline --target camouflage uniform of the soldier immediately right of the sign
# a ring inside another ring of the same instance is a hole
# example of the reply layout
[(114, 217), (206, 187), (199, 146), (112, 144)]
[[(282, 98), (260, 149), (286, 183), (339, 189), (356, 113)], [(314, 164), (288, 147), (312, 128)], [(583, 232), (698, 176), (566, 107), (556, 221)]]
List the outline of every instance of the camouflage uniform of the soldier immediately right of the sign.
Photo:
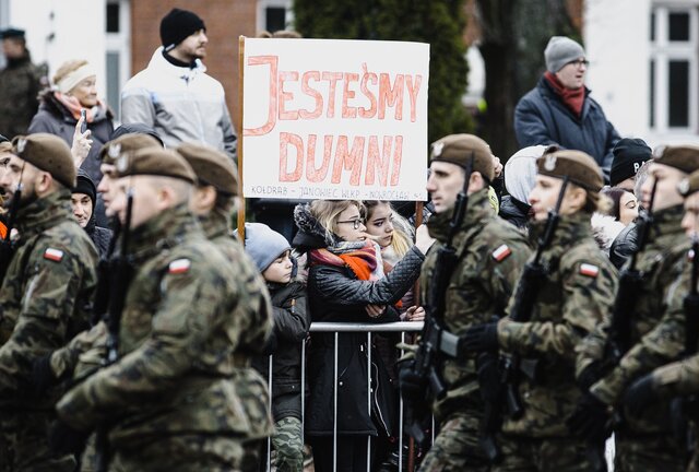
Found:
[[(429, 233), (437, 239), (435, 245), (447, 238), (449, 213), (435, 214), (428, 222)], [(470, 326), (487, 322), (493, 315), (502, 312), (531, 251), (524, 236), (495, 214), (487, 189), (469, 197), (469, 209), (453, 246), (459, 264), (447, 288), (445, 324), (461, 335)], [(430, 290), (436, 255), (437, 248), (433, 248), (423, 263), (423, 300), (427, 300)], [(440, 433), (420, 471), (488, 470), (488, 460), (478, 444), (483, 400), (475, 364), (474, 355), (443, 362), (441, 376), (449, 386), (448, 392), (434, 405)]]

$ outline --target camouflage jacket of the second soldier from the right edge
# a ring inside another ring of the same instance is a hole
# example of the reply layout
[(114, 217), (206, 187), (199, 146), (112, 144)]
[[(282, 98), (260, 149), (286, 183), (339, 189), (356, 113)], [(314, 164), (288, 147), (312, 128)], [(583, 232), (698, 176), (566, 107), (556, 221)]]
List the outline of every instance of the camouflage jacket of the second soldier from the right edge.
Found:
[[(631, 317), (632, 347), (609, 374), (590, 388), (607, 404), (617, 404), (632, 380), (676, 359), (683, 349), (682, 300), (688, 284), (677, 282), (688, 266), (690, 246), (680, 227), (683, 211), (677, 205), (656, 212), (645, 248), (638, 255), (637, 269), (643, 274), (643, 282)], [(580, 346), (578, 371), (602, 358), (609, 320), (597, 327)], [(641, 433), (670, 430), (667, 408), (665, 403), (649, 409), (641, 417), (629, 418), (627, 426)]]

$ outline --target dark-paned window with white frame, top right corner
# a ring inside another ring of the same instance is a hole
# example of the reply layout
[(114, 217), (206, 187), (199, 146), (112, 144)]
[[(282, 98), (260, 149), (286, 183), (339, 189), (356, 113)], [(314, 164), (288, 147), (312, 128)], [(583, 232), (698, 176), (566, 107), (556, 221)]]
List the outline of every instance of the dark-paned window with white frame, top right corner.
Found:
[(699, 1), (657, 3), (650, 16), (649, 126), (657, 132), (699, 127)]

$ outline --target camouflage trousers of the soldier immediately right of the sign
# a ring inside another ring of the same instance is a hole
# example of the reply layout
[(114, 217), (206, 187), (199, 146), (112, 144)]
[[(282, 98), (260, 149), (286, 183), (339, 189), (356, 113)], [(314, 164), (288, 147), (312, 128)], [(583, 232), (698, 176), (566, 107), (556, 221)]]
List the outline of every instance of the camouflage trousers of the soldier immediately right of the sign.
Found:
[(435, 444), (419, 472), (488, 471), (488, 460), (478, 442), (478, 414), (458, 412), (440, 425)]

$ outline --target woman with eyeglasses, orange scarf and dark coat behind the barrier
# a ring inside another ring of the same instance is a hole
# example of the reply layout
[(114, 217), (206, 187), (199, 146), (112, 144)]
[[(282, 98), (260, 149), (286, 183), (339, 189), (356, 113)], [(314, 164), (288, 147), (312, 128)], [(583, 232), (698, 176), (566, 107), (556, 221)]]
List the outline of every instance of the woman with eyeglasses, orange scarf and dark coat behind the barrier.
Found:
[[(398, 321), (394, 307), (419, 276), (430, 241), (418, 239), (386, 274), (381, 250), (367, 234), (359, 201), (316, 200), (294, 211), (298, 234), (294, 246), (306, 253), (308, 300), (312, 321), (380, 323)], [(311, 335), (305, 427), (313, 449), (316, 471), (366, 471), (369, 437), (394, 430), (396, 406), (381, 358), (371, 355), (371, 411), (368, 409), (366, 333)], [(335, 352), (337, 355), (335, 385)], [(333, 455), (334, 393), (337, 389), (337, 449)], [(372, 450), (375, 448), (372, 447)], [(380, 460), (381, 458), (376, 458)]]

